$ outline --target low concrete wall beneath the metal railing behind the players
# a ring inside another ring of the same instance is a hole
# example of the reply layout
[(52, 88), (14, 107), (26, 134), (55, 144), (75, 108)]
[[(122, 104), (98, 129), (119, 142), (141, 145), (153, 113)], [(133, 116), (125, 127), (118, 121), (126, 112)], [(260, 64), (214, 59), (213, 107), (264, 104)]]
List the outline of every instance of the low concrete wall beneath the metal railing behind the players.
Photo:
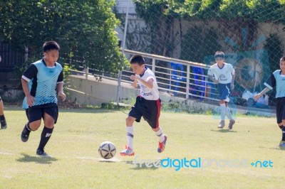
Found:
[[(85, 75), (70, 75), (68, 76), (69, 85), (68, 92), (70, 93), (69, 99), (72, 102), (78, 102), (79, 104), (93, 104), (100, 105), (103, 102), (116, 102), (118, 81), (108, 80), (103, 78), (102, 81), (95, 80), (95, 77)], [(133, 105), (135, 97), (139, 95), (140, 91), (134, 89), (130, 83), (121, 83), (120, 90), (120, 102), (127, 102)], [(160, 99), (163, 104), (170, 104), (173, 102), (179, 102), (180, 108), (188, 110), (189, 112), (207, 112), (208, 110), (217, 112), (219, 114), (219, 103), (217, 101), (200, 101), (199, 99), (185, 99), (181, 97), (173, 97), (167, 92), (160, 92)], [(231, 105), (232, 112), (239, 114), (257, 114), (267, 117), (274, 117), (275, 111), (272, 109), (256, 109), (247, 107), (237, 107), (234, 104)]]

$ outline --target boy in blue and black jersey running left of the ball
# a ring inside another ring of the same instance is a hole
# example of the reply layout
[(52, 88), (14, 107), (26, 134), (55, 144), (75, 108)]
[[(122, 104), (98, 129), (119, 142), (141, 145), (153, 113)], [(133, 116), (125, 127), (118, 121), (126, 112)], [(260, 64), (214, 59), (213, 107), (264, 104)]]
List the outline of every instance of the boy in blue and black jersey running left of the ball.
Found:
[[(55, 41), (43, 44), (43, 59), (32, 63), (22, 75), (22, 87), (28, 104), (28, 123), (21, 133), (21, 140), (28, 141), (31, 131), (41, 126), (43, 118), (43, 131), (36, 150), (39, 156), (48, 156), (43, 148), (48, 143), (53, 132), (54, 124), (58, 119), (57, 95), (66, 98), (63, 92), (63, 68), (58, 60), (59, 45)], [(28, 82), (31, 82), (29, 89)]]

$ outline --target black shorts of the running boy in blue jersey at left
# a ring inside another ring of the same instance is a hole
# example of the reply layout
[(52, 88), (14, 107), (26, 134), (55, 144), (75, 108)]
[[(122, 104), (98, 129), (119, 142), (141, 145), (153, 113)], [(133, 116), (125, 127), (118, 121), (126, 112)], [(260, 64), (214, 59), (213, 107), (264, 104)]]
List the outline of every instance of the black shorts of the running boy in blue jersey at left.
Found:
[(28, 107), (28, 122), (33, 122), (43, 118), (46, 113), (54, 119), (54, 123), (58, 120), (58, 106), (57, 105), (41, 105), (36, 107)]

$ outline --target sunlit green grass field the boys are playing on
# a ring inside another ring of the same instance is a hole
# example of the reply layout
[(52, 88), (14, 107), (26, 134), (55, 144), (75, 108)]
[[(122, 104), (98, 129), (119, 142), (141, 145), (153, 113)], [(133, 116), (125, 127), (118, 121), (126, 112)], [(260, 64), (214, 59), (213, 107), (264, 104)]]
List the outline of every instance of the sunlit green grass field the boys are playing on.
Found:
[[(43, 127), (23, 143), (24, 110), (5, 110), (8, 128), (0, 130), (0, 188), (284, 188), (285, 151), (278, 147), (281, 131), (275, 118), (237, 117), (229, 131), (217, 129), (219, 120), (210, 115), (162, 112), (160, 125), (168, 136), (165, 151), (157, 153), (157, 136), (142, 121), (135, 124), (135, 157), (120, 157), (128, 110), (61, 109), (45, 148), (51, 157), (39, 157), (35, 153)], [(98, 155), (103, 141), (117, 147), (110, 161)], [(247, 160), (248, 164), (222, 168), (213, 163), (175, 171), (143, 163), (135, 166), (135, 158), (215, 159), (220, 166)], [(273, 167), (249, 165), (269, 160)]]

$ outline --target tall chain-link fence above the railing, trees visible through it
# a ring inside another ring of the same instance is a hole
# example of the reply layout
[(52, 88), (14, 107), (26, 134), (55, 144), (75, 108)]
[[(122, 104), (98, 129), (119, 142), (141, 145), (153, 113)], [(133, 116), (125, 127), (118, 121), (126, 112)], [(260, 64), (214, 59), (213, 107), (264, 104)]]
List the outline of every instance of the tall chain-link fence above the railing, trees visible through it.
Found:
[[(245, 92), (261, 91), (279, 69), (285, 45), (283, 1), (117, 1), (114, 12), (122, 31), (128, 3), (126, 49), (205, 65), (214, 64), (214, 53), (222, 50), (236, 70), (236, 104), (245, 103)], [(268, 95), (269, 105), (275, 105), (274, 90)]]

